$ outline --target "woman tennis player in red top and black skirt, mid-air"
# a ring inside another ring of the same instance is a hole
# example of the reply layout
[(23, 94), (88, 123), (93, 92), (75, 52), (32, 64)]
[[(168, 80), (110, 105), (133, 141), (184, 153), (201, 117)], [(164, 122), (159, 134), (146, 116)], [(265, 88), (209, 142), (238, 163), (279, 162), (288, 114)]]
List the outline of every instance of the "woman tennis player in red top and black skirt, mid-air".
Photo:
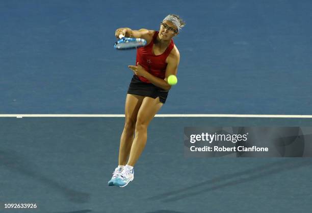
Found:
[(172, 38), (185, 22), (169, 14), (160, 30), (119, 28), (115, 36), (143, 38), (147, 44), (137, 49), (136, 65), (129, 65), (134, 76), (125, 101), (125, 124), (120, 138), (118, 167), (108, 185), (126, 186), (134, 179), (134, 165), (147, 140), (147, 127), (166, 102), (171, 86), (167, 77), (177, 74), (180, 54)]

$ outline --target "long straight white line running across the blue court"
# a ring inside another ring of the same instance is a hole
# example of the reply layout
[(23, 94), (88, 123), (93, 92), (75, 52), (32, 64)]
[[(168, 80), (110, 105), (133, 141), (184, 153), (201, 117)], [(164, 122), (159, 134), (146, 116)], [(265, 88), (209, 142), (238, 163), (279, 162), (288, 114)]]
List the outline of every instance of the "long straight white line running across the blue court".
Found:
[[(124, 114), (0, 114), (0, 117), (124, 117)], [(311, 119), (312, 115), (296, 114), (157, 114), (155, 117), (274, 117)]]

